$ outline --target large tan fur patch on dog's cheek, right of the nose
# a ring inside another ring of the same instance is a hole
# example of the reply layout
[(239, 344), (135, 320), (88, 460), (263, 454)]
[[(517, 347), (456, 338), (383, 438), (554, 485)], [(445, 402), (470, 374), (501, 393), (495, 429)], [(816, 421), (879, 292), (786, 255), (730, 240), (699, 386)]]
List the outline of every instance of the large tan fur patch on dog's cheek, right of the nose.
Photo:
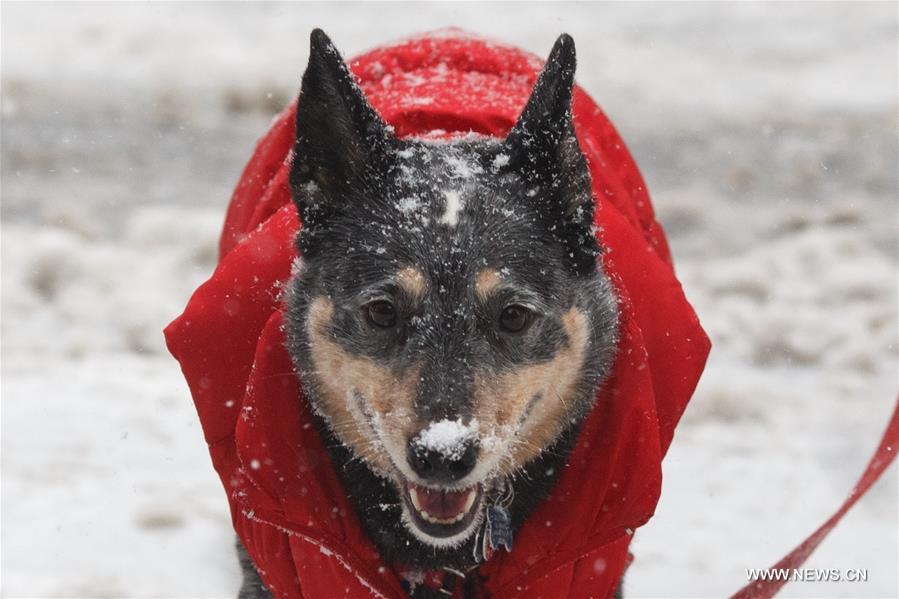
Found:
[(543, 364), (519, 368), (496, 378), (475, 378), (475, 405), (481, 431), (511, 431), (531, 402), (541, 394), (515, 438), (502, 469), (510, 472), (542, 451), (561, 432), (569, 417), (583, 368), (588, 338), (588, 320), (583, 312), (571, 308), (562, 316), (568, 345), (555, 358)]

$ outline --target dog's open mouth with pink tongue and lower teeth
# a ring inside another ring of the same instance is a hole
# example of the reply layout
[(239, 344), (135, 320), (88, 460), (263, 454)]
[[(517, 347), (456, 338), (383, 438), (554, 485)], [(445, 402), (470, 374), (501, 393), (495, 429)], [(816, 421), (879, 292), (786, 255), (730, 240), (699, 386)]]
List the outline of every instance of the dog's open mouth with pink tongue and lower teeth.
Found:
[(464, 531), (478, 513), (481, 485), (466, 489), (431, 489), (414, 483), (404, 485), (403, 500), (422, 532), (433, 537), (451, 537)]

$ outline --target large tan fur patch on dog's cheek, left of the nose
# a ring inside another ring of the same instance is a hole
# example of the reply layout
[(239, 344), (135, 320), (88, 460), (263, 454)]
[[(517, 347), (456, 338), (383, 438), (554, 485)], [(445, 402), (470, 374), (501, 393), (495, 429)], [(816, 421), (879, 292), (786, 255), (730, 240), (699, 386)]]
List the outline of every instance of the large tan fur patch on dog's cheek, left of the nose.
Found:
[[(394, 468), (383, 450), (370, 416), (380, 419), (382, 441), (405, 446), (411, 434), (413, 401), (419, 368), (412, 367), (404, 375), (359, 356), (353, 356), (331, 340), (328, 325), (334, 317), (334, 304), (316, 298), (309, 307), (306, 322), (309, 347), (315, 367), (314, 379), (319, 391), (319, 407), (332, 431), (375, 468), (390, 472)], [(362, 395), (366, 416), (356, 407), (355, 394)]]

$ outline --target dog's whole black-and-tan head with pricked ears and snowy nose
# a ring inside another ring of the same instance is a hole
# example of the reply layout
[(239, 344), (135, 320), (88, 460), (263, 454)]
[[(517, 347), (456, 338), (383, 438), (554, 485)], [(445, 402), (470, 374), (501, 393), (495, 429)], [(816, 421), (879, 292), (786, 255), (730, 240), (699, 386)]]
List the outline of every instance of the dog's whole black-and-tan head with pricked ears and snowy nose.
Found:
[(498, 482), (589, 410), (614, 354), (574, 62), (563, 36), (505, 140), (401, 140), (313, 33), (289, 349), (330, 433), (430, 547), (472, 537)]

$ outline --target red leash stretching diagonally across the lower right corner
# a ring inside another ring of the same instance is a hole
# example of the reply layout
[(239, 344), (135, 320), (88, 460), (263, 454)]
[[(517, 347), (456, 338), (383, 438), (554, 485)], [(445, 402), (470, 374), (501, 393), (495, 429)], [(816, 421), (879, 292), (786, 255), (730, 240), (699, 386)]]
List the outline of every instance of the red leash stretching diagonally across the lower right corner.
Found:
[[(818, 530), (812, 533), (810, 537), (803, 541), (793, 551), (788, 553), (782, 560), (774, 564), (770, 570), (793, 570), (794, 568), (799, 568), (818, 547), (821, 541), (824, 540), (827, 533), (837, 525), (843, 516), (846, 515), (846, 512), (855, 505), (855, 502), (861, 499), (877, 479), (880, 478), (883, 471), (893, 462), (897, 451), (899, 451), (899, 400), (896, 402), (893, 416), (890, 418), (890, 423), (887, 425), (887, 429), (880, 440), (880, 446), (877, 448), (877, 451), (874, 452), (874, 455), (871, 456), (868, 467), (865, 468), (865, 472), (852, 489), (849, 497), (847, 497), (846, 501), (843, 502), (843, 505), (840, 506), (840, 509), (838, 509), (827, 522), (822, 524)], [(788, 577), (783, 578), (783, 580), (768, 579), (753, 581), (737, 591), (731, 599), (768, 599), (769, 597), (773, 597), (774, 594), (788, 582)]]

